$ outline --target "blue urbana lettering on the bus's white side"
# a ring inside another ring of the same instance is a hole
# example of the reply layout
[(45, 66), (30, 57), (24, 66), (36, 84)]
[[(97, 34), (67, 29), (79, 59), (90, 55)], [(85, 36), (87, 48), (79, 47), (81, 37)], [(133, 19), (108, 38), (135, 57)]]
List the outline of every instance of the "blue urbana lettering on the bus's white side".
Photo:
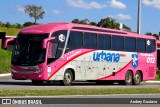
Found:
[(94, 61), (119, 62), (120, 54), (119, 53), (105, 53), (104, 51), (94, 52), (93, 60)]

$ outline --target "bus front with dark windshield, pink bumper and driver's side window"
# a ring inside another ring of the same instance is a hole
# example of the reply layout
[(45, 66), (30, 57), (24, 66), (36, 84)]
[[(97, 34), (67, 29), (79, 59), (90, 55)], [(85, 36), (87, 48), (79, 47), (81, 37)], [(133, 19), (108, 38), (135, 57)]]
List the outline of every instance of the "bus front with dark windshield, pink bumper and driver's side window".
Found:
[(15, 41), (12, 53), (12, 78), (17, 80), (47, 80), (49, 63), (61, 57), (67, 31), (56, 31), (52, 34), (55, 40), (42, 48), (43, 40), (49, 38), (49, 34), (19, 34)]

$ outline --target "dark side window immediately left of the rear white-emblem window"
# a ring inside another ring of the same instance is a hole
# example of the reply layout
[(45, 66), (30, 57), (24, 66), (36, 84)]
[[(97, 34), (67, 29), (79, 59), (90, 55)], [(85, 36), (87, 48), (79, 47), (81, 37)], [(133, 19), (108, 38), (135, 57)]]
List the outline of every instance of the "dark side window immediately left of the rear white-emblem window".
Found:
[(138, 52), (146, 51), (146, 39), (142, 39), (142, 38), (137, 39), (137, 51)]

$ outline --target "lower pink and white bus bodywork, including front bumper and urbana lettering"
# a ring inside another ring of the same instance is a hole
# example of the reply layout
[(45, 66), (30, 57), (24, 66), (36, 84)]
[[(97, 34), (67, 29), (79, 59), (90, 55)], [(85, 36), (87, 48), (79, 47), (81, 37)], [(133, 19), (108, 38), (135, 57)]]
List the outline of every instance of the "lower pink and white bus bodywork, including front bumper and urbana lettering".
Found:
[[(105, 59), (105, 57), (107, 57), (105, 53), (108, 54), (108, 60)], [(115, 59), (115, 54), (120, 55), (118, 56), (119, 60)], [(100, 57), (98, 55), (100, 55)], [(138, 59), (132, 55), (138, 55)], [(101, 57), (104, 57), (104, 59)], [(152, 60), (153, 62), (150, 63), (148, 61), (150, 57), (155, 58), (155, 55), (138, 54), (135, 52), (79, 49), (66, 53), (55, 63), (44, 67), (45, 69), (40, 73), (32, 73), (33, 70), (26, 70), (31, 69), (31, 67), (21, 67), (21, 69), (14, 67), (14, 70), (24, 72), (20, 74), (12, 73), (12, 75), (14, 79), (63, 80), (65, 70), (73, 69), (75, 72), (75, 80), (124, 80), (126, 71), (131, 70), (135, 74), (137, 70), (141, 70), (143, 72), (143, 80), (147, 80), (154, 79), (156, 72), (155, 61)], [(138, 61), (134, 62), (134, 60)], [(39, 66), (39, 68), (43, 68), (43, 65), (41, 66), (42, 67)], [(148, 66), (148, 69), (146, 69), (145, 66)], [(29, 74), (29, 72), (31, 73)], [(113, 73), (115, 73), (115, 75), (113, 75)]]

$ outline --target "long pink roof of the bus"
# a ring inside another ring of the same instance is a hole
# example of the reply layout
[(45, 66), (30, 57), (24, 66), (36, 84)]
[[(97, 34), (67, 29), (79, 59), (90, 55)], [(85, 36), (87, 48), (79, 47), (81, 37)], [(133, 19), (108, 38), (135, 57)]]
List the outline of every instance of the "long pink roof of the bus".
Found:
[(107, 33), (111, 35), (119, 35), (119, 36), (132, 36), (132, 37), (140, 37), (140, 38), (149, 38), (155, 39), (153, 36), (146, 35), (138, 35), (134, 32), (128, 32), (124, 30), (115, 30), (110, 28), (101, 28), (93, 25), (84, 25), (84, 24), (75, 24), (75, 23), (67, 23), (67, 22), (58, 22), (58, 23), (48, 23), (42, 25), (34, 25), (30, 27), (26, 27), (20, 31), (20, 33), (52, 33), (57, 30), (75, 30), (75, 31), (86, 31), (86, 32), (98, 32), (98, 33)]

